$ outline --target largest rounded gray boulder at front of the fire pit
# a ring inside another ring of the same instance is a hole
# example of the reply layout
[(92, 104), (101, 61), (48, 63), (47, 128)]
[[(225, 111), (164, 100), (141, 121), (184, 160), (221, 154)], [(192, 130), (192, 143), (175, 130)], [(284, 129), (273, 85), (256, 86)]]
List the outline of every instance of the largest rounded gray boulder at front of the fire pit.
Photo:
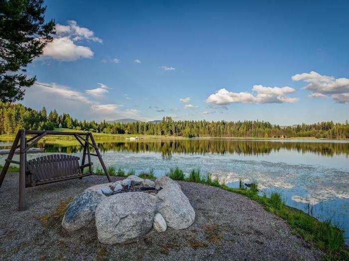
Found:
[(105, 198), (96, 209), (96, 227), (101, 243), (116, 244), (140, 237), (153, 226), (156, 197), (127, 192)]

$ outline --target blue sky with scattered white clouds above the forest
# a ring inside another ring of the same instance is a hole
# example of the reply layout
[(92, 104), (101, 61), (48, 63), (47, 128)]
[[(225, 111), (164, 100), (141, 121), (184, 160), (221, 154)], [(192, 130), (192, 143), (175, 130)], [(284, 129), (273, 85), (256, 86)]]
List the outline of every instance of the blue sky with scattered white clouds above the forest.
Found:
[(349, 119), (349, 1), (46, 0), (23, 105), (80, 120)]

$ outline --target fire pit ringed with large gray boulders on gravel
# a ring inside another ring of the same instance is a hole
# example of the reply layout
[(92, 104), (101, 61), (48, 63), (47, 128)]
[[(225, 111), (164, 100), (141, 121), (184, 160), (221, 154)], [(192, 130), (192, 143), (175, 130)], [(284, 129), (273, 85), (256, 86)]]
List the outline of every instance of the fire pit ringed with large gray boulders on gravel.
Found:
[(122, 243), (167, 227), (184, 229), (195, 212), (180, 185), (167, 176), (155, 181), (131, 175), (114, 183), (94, 185), (67, 206), (62, 226), (76, 231), (96, 226), (102, 243)]

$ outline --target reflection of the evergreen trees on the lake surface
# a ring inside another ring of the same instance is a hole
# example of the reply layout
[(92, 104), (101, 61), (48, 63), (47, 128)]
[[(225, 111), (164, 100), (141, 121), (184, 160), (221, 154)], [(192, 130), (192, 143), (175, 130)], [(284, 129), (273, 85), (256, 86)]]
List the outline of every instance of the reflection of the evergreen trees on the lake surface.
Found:
[[(238, 155), (265, 155), (280, 149), (297, 151), (299, 153), (312, 152), (322, 156), (335, 154), (349, 155), (349, 143), (316, 143), (316, 142), (271, 142), (271, 141), (236, 141), (236, 140), (166, 140), (139, 142), (97, 142), (102, 152), (161, 152), (166, 159), (173, 153), (217, 153)], [(63, 146), (55, 144), (38, 145), (46, 152), (77, 153), (82, 152), (80, 145)], [(93, 151), (91, 149), (91, 151)]]

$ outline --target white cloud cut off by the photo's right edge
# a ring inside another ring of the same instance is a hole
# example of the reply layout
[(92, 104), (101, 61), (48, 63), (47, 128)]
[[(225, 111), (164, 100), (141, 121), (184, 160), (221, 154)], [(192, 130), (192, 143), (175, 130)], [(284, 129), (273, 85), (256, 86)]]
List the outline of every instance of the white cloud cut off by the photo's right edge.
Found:
[(312, 91), (311, 97), (324, 97), (331, 95), (339, 103), (349, 103), (349, 79), (335, 78), (318, 74), (317, 72), (296, 74), (292, 76), (293, 81), (308, 83), (303, 89)]

